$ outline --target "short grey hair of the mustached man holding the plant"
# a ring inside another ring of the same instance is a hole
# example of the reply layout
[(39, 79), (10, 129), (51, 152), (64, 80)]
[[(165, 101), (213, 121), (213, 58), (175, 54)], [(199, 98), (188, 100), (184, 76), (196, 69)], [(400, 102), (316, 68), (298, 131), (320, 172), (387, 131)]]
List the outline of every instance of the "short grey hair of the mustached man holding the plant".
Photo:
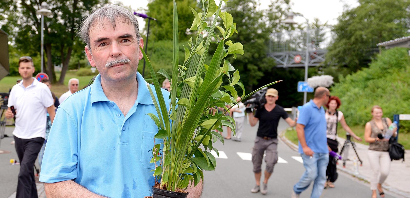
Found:
[(115, 29), (115, 21), (119, 19), (124, 24), (131, 23), (135, 28), (135, 34), (137, 36), (137, 43), (139, 44), (139, 25), (137, 18), (127, 9), (118, 5), (107, 5), (100, 7), (93, 11), (89, 16), (82, 20), (80, 27), (77, 29), (77, 36), (80, 40), (85, 42), (91, 51), (90, 46), (90, 31), (93, 26), (98, 23), (103, 23), (104, 21), (109, 21), (112, 27)]

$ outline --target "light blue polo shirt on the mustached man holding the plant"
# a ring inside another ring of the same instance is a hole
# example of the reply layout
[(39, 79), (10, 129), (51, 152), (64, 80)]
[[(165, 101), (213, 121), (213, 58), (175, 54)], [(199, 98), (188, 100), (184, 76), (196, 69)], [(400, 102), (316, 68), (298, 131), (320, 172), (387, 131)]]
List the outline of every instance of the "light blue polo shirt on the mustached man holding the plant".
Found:
[[(41, 182), (74, 180), (112, 198), (152, 195), (154, 177), (150, 171), (155, 165), (150, 160), (158, 128), (147, 113), (157, 115), (157, 111), (139, 73), (137, 81), (137, 100), (125, 117), (105, 96), (100, 75), (93, 85), (59, 106), (44, 152)], [(161, 91), (169, 101), (169, 92)]]

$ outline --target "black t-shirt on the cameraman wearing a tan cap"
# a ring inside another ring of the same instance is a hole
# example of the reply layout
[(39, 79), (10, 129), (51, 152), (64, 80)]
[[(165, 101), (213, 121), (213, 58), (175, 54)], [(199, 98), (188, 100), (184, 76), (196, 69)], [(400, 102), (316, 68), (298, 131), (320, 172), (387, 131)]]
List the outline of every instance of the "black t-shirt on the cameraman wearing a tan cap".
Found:
[(266, 111), (265, 107), (258, 109), (255, 114), (255, 118), (259, 118), (259, 128), (257, 129), (256, 136), (277, 138), (280, 117), (286, 119), (289, 116), (283, 107), (279, 105), (276, 105), (272, 111)]

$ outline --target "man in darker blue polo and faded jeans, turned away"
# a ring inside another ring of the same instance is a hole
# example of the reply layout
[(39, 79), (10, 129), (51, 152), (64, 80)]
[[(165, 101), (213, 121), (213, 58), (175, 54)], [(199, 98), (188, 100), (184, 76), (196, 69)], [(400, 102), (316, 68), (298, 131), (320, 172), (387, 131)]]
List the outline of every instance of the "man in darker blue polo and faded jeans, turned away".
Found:
[(293, 187), (292, 198), (299, 195), (313, 183), (311, 198), (319, 198), (326, 182), (326, 168), (329, 162), (329, 149), (326, 138), (325, 110), (322, 106), (328, 103), (330, 92), (325, 87), (318, 87), (314, 99), (303, 105), (296, 133), (299, 139), (299, 153), (306, 171)]

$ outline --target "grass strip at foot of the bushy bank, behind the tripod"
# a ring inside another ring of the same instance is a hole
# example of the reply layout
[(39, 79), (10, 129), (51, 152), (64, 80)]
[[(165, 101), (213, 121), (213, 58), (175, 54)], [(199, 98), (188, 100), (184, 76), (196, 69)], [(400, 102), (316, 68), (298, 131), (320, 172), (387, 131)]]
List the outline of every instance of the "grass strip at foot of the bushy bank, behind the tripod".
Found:
[[(359, 136), (360, 138), (363, 139), (362, 142), (358, 142), (355, 140), (355, 142), (364, 144), (364, 145), (369, 145), (369, 143), (364, 141), (364, 126), (353, 126), (350, 127), (352, 131)], [(346, 138), (346, 131), (344, 131), (341, 127), (337, 129), (337, 135), (342, 138)], [(285, 132), (285, 137), (293, 142), (294, 144), (298, 145), (298, 136), (296, 135), (296, 130), (293, 128), (289, 128)], [(353, 140), (353, 138), (352, 138)], [(410, 149), (410, 134), (409, 133), (399, 133), (399, 143), (404, 146), (405, 149)]]

